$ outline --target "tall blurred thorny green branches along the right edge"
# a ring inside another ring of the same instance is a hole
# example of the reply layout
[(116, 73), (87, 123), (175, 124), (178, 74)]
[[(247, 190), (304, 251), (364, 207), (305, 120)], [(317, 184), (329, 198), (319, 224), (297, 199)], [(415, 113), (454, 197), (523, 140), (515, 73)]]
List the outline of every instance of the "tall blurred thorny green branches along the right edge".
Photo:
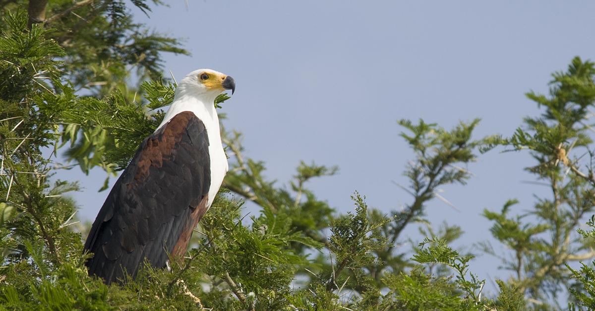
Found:
[[(581, 219), (594, 210), (594, 153), (588, 133), (589, 108), (595, 102), (594, 65), (572, 59), (566, 72), (553, 74), (550, 96), (527, 93), (543, 113), (525, 118), (524, 127), (512, 137), (490, 142), (509, 150), (529, 150), (537, 163), (527, 171), (550, 189), (550, 196), (537, 197), (526, 213), (509, 216), (516, 200), (509, 200), (502, 212), (484, 211), (494, 222), (494, 237), (512, 250), (512, 259), (503, 262), (514, 272), (507, 286), (543, 308), (548, 307), (547, 299), (555, 299), (570, 286), (571, 271), (566, 267), (595, 255), (593, 243), (574, 234)], [(483, 246), (494, 254), (490, 245)]]

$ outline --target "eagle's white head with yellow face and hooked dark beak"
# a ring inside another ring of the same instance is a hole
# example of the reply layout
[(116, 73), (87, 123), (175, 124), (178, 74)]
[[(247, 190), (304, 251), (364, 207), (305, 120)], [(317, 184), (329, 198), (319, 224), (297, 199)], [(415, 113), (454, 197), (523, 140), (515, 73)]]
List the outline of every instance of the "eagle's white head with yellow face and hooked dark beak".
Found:
[(197, 96), (205, 102), (213, 102), (224, 90), (236, 90), (232, 77), (211, 69), (192, 71), (184, 77), (176, 89), (176, 97), (183, 95)]

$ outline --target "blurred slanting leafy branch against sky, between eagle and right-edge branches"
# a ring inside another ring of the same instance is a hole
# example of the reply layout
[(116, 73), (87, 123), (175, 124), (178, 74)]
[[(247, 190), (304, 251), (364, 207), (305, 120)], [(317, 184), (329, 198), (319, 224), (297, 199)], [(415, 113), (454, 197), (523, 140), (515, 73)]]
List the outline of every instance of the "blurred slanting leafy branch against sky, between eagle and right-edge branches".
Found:
[[(411, 132), (401, 133), (400, 136), (414, 151), (415, 159), (409, 162), (403, 173), (409, 179), (409, 187), (396, 185), (412, 196), (412, 203), (405, 205), (401, 211), (392, 211), (393, 221), (375, 229), (388, 243), (386, 248), (375, 252), (375, 256), (380, 259), (378, 265), (369, 268), (369, 274), (374, 276), (379, 285), (384, 271), (403, 271), (407, 266), (411, 266), (406, 260), (408, 250), (395, 252), (405, 227), (412, 222), (427, 224), (424, 220), (425, 206), (434, 198), (453, 206), (446, 198), (440, 196), (440, 187), (456, 183), (465, 184), (471, 177), (471, 173), (464, 167), (475, 161), (476, 149), (485, 140), (472, 139), (472, 131), (478, 122), (479, 120), (460, 122), (452, 130), (445, 130), (423, 120), (418, 124), (409, 120), (399, 121), (400, 125)], [(378, 216), (378, 212), (372, 211), (371, 217)]]

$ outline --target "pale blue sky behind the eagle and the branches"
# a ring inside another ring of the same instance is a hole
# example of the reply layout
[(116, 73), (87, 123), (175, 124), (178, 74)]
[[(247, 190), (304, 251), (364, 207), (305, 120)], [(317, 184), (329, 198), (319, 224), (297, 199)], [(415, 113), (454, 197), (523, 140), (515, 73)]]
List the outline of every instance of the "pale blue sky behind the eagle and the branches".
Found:
[[(338, 165), (340, 173), (309, 187), (338, 211), (353, 209), (354, 190), (387, 213), (411, 202), (392, 181), (413, 155), (398, 136), (402, 118), (450, 128), (481, 118), (476, 138), (512, 134), (538, 112), (525, 98), (547, 92), (553, 71), (572, 57), (593, 59), (595, 2), (575, 1), (184, 1), (137, 20), (185, 39), (192, 56), (164, 55), (177, 78), (198, 68), (233, 76), (236, 94), (224, 103), (226, 127), (245, 135), (246, 156), (267, 163), (267, 176), (286, 183), (300, 160)], [(527, 153), (480, 155), (468, 186), (441, 193), (427, 208), (435, 225), (460, 225), (456, 246), (493, 241), (484, 208), (531, 208), (543, 187), (522, 168)], [(74, 178), (80, 217), (94, 219), (107, 196), (105, 174)], [(114, 180), (112, 180), (113, 183)], [(417, 225), (407, 231), (415, 240)], [(506, 250), (493, 243), (497, 252)], [(409, 246), (403, 246), (409, 249)], [(475, 259), (472, 271), (507, 278), (498, 259)]]

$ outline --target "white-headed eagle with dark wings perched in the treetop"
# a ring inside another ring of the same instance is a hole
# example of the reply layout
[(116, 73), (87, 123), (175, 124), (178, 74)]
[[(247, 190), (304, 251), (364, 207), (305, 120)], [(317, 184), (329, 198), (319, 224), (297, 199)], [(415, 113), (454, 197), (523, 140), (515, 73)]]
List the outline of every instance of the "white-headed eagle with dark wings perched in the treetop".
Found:
[(186, 253), (193, 228), (223, 183), (228, 164), (215, 98), (236, 89), (214, 70), (192, 71), (176, 87), (159, 127), (115, 182), (89, 232), (89, 275), (106, 284), (136, 275), (145, 260), (165, 268)]

